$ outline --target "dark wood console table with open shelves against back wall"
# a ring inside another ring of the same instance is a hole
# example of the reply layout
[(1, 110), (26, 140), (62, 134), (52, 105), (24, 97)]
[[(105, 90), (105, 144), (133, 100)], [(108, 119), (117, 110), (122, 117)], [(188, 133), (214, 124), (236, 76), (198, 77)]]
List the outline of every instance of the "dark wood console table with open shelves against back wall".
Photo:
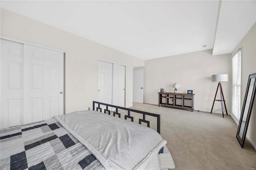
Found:
[(162, 93), (159, 92), (158, 106), (176, 107), (194, 110), (194, 95), (186, 93)]

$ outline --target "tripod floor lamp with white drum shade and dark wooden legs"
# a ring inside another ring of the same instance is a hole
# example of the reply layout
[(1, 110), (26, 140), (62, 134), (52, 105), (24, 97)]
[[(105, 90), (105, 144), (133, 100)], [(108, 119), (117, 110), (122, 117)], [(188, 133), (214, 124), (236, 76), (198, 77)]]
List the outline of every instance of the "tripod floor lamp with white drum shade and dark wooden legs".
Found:
[[(221, 86), (221, 81), (228, 81), (228, 74), (216, 74), (216, 75), (212, 75), (212, 81), (218, 81), (218, 87), (215, 93), (215, 97), (214, 97), (214, 101), (212, 104), (212, 109), (214, 106), (214, 102), (215, 101), (220, 101), (221, 102), (221, 108), (222, 108), (222, 117), (224, 117), (224, 112), (223, 112), (223, 104), (225, 106), (225, 110), (226, 110), (226, 114), (228, 115), (228, 111), (227, 111), (227, 107), (226, 107), (226, 103), (225, 103), (225, 99), (224, 99), (224, 95), (223, 95), (223, 91), (222, 91), (222, 86)], [(216, 100), (216, 95), (218, 93), (218, 88), (220, 87), (220, 100)], [(211, 110), (212, 113), (212, 110)]]

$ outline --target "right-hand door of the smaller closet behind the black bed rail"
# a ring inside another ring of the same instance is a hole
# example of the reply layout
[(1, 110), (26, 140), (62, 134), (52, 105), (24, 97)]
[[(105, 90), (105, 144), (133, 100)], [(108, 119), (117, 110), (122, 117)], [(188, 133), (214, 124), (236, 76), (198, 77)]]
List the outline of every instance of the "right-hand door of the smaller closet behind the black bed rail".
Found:
[(125, 66), (113, 64), (113, 105), (124, 107), (124, 86)]

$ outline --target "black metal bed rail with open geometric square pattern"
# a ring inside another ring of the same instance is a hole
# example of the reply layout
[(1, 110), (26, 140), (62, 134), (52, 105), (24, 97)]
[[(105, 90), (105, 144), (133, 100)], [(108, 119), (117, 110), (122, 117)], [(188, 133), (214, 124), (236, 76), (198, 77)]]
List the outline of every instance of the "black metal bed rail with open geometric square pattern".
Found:
[(126, 107), (109, 105), (109, 104), (101, 103), (101, 102), (98, 102), (98, 101), (93, 101), (92, 102), (92, 110), (95, 110), (95, 107), (94, 107), (95, 104), (98, 104), (98, 107), (96, 107), (96, 111), (100, 110), (100, 112), (102, 112), (102, 108), (100, 108), (100, 105), (106, 106), (106, 109), (104, 109), (104, 112), (102, 112), (102, 113), (108, 113), (108, 115), (110, 115), (110, 112), (111, 112), (110, 110), (108, 110), (108, 107), (116, 108), (116, 111), (113, 112), (113, 116), (118, 115), (118, 117), (121, 117), (121, 114), (118, 113), (118, 109), (125, 110), (125, 111), (127, 111), (127, 115), (124, 115), (124, 119), (127, 120), (127, 118), (130, 118), (132, 122), (133, 122), (134, 117), (132, 117), (130, 115), (130, 112), (140, 113), (140, 114), (143, 115), (143, 119), (139, 119), (139, 124), (141, 124), (141, 122), (144, 122), (144, 123), (147, 124), (148, 127), (150, 127), (150, 122), (146, 121), (146, 115), (156, 117), (157, 118), (157, 132), (160, 134), (160, 115), (158, 115), (158, 114), (148, 113), (148, 112), (144, 112), (144, 111), (138, 111), (138, 110), (129, 109), (129, 108), (126, 108)]

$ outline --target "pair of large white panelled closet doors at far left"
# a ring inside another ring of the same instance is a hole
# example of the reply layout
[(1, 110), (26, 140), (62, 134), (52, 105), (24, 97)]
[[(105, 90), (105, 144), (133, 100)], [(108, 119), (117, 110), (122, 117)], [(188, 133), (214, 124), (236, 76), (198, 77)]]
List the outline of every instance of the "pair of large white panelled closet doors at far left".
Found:
[(1, 128), (64, 113), (64, 53), (1, 39)]

